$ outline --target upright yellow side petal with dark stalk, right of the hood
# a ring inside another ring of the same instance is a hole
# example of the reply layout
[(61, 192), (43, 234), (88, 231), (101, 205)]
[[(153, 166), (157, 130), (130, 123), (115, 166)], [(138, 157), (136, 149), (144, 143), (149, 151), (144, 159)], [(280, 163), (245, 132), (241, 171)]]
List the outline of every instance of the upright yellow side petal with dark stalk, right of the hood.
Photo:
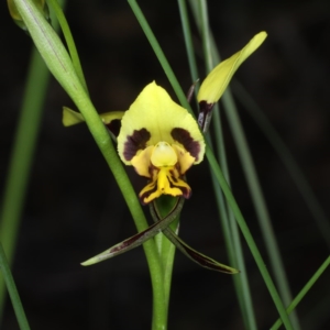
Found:
[(240, 65), (258, 48), (266, 36), (266, 32), (256, 34), (244, 48), (218, 64), (202, 81), (197, 100), (200, 108), (198, 123), (204, 132), (208, 129), (213, 105), (221, 98), (232, 76)]

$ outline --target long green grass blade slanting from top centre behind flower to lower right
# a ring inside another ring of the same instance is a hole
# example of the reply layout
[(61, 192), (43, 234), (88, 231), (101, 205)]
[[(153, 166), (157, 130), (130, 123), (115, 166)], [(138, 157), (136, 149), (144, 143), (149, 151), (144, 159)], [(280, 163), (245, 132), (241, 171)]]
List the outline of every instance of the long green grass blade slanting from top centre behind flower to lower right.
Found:
[[(178, 81), (177, 81), (177, 79), (176, 79), (176, 77), (175, 77), (175, 75), (174, 75), (174, 73), (173, 73), (165, 55), (164, 55), (164, 53), (162, 52), (162, 48), (161, 48), (160, 44), (157, 43), (157, 40), (155, 38), (152, 30), (150, 29), (150, 26), (148, 26), (148, 24), (147, 24), (147, 22), (144, 18), (139, 4), (134, 0), (128, 0), (128, 2), (131, 6), (139, 23), (141, 24), (141, 28), (143, 29), (147, 40), (150, 41), (150, 43), (151, 43), (151, 45), (152, 45), (152, 47), (153, 47), (161, 65), (162, 65), (166, 76), (168, 77), (168, 80), (170, 81), (170, 84), (172, 84), (172, 86), (173, 86), (180, 103), (183, 105), (183, 107), (185, 107), (194, 116), (194, 113), (190, 109), (190, 106), (186, 100), (185, 94), (183, 92), (183, 90), (182, 90), (182, 88), (180, 88), (180, 86), (179, 86), (179, 84), (178, 84)], [(255, 260), (255, 262), (256, 262), (256, 264), (260, 268), (260, 272), (261, 272), (261, 274), (264, 278), (264, 282), (265, 282), (265, 284), (268, 288), (268, 292), (270, 292), (270, 294), (271, 294), (271, 296), (274, 300), (274, 304), (275, 304), (275, 306), (276, 306), (276, 308), (279, 312), (279, 316), (282, 317), (285, 327), (290, 330), (290, 329), (293, 329), (293, 327), (292, 327), (290, 321), (288, 319), (288, 316), (285, 311), (284, 305), (283, 305), (283, 302), (279, 298), (279, 295), (276, 290), (276, 287), (275, 287), (273, 280), (270, 276), (270, 273), (268, 273), (268, 271), (267, 271), (267, 268), (266, 268), (266, 266), (263, 262), (263, 258), (262, 258), (262, 256), (261, 256), (261, 254), (257, 250), (257, 246), (256, 246), (256, 244), (253, 240), (253, 237), (252, 237), (252, 234), (251, 234), (251, 232), (250, 232), (250, 230), (246, 226), (246, 222), (245, 222), (245, 220), (244, 220), (244, 218), (243, 218), (243, 216), (242, 216), (242, 213), (239, 209), (239, 206), (235, 202), (235, 199), (233, 198), (233, 195), (232, 195), (232, 193), (231, 193), (231, 190), (230, 190), (230, 188), (229, 188), (229, 186), (226, 182), (226, 178), (223, 177), (223, 174), (222, 174), (222, 172), (221, 172), (221, 169), (218, 165), (218, 162), (215, 158), (215, 155), (213, 155), (212, 151), (208, 146), (206, 148), (206, 156), (207, 156), (207, 158), (208, 158), (208, 161), (211, 165), (212, 170), (215, 172), (217, 180), (219, 182), (219, 184), (220, 184), (220, 186), (221, 186), (221, 188), (224, 193), (226, 198), (228, 199), (228, 202), (229, 202), (229, 205), (230, 205), (230, 207), (231, 207), (231, 209), (234, 213), (234, 217), (235, 217), (235, 219), (237, 219), (237, 221), (238, 221), (238, 223), (241, 228), (241, 231), (242, 231), (242, 233), (243, 233), (243, 235), (246, 240), (246, 243), (248, 243), (248, 245), (251, 250), (251, 253), (252, 253), (252, 255), (253, 255), (253, 257), (254, 257), (254, 260)]]

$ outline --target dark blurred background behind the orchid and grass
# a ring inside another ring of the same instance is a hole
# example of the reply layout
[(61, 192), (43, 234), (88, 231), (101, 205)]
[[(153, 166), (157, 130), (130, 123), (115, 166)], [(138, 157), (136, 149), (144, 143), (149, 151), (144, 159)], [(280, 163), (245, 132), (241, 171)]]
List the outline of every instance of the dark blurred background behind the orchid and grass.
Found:
[[(176, 1), (141, 0), (140, 4), (179, 82), (188, 89), (191, 78)], [(66, 13), (99, 112), (128, 109), (154, 79), (175, 98), (125, 1), (70, 0)], [(255, 33), (267, 31), (266, 42), (235, 77), (279, 132), (329, 215), (329, 1), (209, 1), (209, 15), (223, 58)], [(3, 189), (33, 46), (12, 23), (4, 1), (0, 26)], [(202, 50), (197, 33), (194, 42), (199, 56)], [(199, 65), (204, 78), (201, 57)], [(132, 235), (135, 228), (86, 127), (62, 125), (62, 106), (74, 107), (52, 79), (13, 265), (31, 328), (148, 329), (152, 293), (141, 248), (91, 267), (79, 265)], [(329, 245), (282, 161), (244, 107), (238, 106), (295, 296), (329, 255)], [(227, 121), (224, 138), (234, 195), (268, 265)], [(132, 168), (128, 172), (139, 191), (144, 179)], [(194, 195), (183, 211), (180, 235), (227, 263), (207, 162), (189, 170), (188, 179)], [(277, 319), (276, 309), (244, 242), (243, 246), (257, 323), (260, 329), (268, 329)], [(328, 271), (298, 307), (302, 329), (328, 329), (329, 306)], [(169, 329), (242, 327), (232, 278), (200, 268), (177, 253)], [(18, 329), (10, 301), (1, 329)]]

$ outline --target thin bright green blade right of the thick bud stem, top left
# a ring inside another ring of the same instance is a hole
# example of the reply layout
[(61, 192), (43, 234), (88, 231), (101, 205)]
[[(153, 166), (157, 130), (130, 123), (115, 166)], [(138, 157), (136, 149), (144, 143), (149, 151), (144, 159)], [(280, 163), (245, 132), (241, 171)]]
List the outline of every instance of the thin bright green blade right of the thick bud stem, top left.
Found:
[(64, 34), (70, 57), (73, 59), (73, 65), (75, 67), (76, 74), (77, 74), (82, 87), (85, 88), (85, 91), (88, 94), (88, 88), (87, 88), (87, 84), (86, 84), (86, 80), (84, 77), (84, 72), (82, 72), (82, 68), (80, 65), (80, 59), (78, 56), (76, 44), (75, 44), (74, 37), (72, 35), (70, 28), (69, 28), (69, 25), (66, 21), (66, 18), (63, 13), (63, 10), (62, 10), (61, 6), (58, 4), (57, 0), (48, 0), (48, 3), (51, 4), (52, 9), (54, 10), (56, 18), (58, 20), (58, 23), (61, 25), (61, 29)]

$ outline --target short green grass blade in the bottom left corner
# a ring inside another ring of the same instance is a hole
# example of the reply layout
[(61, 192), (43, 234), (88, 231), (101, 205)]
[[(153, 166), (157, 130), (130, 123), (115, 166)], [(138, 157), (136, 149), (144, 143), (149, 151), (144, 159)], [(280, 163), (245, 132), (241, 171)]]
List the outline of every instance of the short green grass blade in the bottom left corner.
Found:
[(6, 286), (20, 326), (21, 330), (30, 330), (30, 326), (14, 283), (12, 274), (10, 272), (10, 265), (6, 257), (2, 244), (0, 243), (0, 274), (2, 274)]

